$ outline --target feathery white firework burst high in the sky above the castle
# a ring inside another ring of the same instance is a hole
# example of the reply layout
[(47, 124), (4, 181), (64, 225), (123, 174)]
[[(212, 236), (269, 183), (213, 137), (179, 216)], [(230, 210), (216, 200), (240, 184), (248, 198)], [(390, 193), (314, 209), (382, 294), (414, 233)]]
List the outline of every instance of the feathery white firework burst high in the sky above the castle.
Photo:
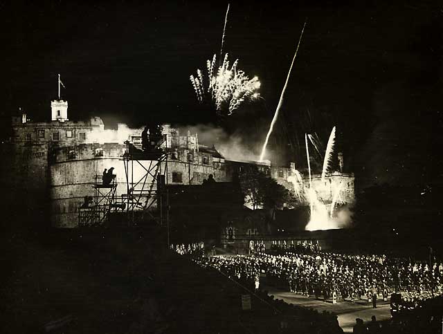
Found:
[(260, 81), (257, 77), (249, 79), (244, 71), (237, 68), (238, 59), (230, 66), (228, 54), (218, 70), (215, 69), (216, 56), (206, 62), (208, 77), (197, 69), (197, 75), (191, 75), (197, 100), (202, 103), (210, 100), (215, 105), (218, 115), (230, 115), (243, 102), (257, 100), (260, 97)]

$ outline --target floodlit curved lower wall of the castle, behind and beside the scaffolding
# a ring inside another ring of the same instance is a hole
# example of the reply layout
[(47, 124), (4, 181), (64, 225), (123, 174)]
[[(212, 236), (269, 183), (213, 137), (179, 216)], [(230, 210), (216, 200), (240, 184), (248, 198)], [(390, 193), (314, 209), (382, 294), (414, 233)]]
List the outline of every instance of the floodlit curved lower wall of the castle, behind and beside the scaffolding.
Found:
[[(118, 183), (117, 198), (127, 193), (125, 166), (123, 160), (120, 160), (125, 149), (126, 145), (118, 144), (82, 144), (59, 147), (53, 151), (50, 165), (51, 223), (53, 226), (59, 228), (77, 226), (79, 207), (84, 202), (84, 196), (93, 196), (94, 178), (96, 175), (101, 176), (105, 168), (115, 168), (114, 174)], [(217, 164), (213, 165), (213, 163), (223, 165), (224, 163), (221, 163), (223, 159), (209, 159), (208, 154), (193, 152), (194, 158), (191, 163), (186, 161), (190, 151), (186, 149), (179, 151), (182, 160), (168, 161), (166, 181), (168, 184), (201, 184), (209, 174), (213, 174), (217, 182), (226, 180), (224, 168)], [(204, 160), (204, 157), (208, 160)], [(151, 162), (139, 160), (139, 163), (134, 162), (130, 172), (130, 175), (134, 173), (134, 182), (145, 175), (145, 169), (149, 169)], [(165, 172), (165, 167), (166, 164), (162, 163), (162, 174)], [(174, 182), (172, 175), (174, 173), (181, 173), (181, 182)], [(147, 176), (143, 182), (147, 185), (145, 189), (149, 188), (152, 176)]]

